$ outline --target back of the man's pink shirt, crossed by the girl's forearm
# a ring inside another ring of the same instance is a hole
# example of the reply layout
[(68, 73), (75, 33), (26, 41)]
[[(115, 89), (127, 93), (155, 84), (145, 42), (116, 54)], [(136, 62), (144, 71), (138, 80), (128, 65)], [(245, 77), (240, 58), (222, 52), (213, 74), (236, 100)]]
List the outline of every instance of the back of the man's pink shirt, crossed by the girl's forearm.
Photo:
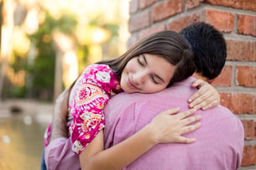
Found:
[[(120, 94), (109, 101), (104, 130), (105, 147), (122, 142), (147, 125), (160, 111), (188, 109), (187, 99), (195, 93), (189, 78), (157, 94)], [(201, 115), (201, 128), (186, 134), (196, 137), (193, 144), (159, 144), (139, 157), (127, 169), (236, 169), (243, 152), (243, 125), (222, 106)]]

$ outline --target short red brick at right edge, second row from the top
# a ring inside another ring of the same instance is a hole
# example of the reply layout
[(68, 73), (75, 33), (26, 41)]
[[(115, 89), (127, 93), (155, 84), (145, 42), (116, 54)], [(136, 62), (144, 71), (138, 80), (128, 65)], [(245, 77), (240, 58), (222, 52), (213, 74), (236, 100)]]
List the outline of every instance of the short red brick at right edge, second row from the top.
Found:
[(238, 33), (256, 36), (256, 17), (238, 15)]

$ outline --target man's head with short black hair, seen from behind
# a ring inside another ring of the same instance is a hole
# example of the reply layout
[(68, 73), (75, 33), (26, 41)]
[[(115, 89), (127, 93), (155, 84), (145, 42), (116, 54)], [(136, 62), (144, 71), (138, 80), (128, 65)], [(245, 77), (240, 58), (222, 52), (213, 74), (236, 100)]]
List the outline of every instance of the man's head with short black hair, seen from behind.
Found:
[(196, 74), (213, 80), (222, 71), (227, 58), (226, 41), (212, 25), (198, 22), (183, 28), (180, 34), (191, 44)]

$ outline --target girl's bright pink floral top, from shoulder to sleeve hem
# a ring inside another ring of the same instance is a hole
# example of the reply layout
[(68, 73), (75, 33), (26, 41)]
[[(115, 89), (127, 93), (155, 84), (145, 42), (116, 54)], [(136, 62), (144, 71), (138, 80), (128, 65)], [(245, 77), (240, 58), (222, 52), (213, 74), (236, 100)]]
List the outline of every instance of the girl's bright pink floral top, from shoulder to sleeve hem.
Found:
[(105, 126), (103, 108), (111, 95), (122, 92), (120, 81), (108, 65), (92, 64), (71, 90), (68, 126), (72, 150), (80, 154)]

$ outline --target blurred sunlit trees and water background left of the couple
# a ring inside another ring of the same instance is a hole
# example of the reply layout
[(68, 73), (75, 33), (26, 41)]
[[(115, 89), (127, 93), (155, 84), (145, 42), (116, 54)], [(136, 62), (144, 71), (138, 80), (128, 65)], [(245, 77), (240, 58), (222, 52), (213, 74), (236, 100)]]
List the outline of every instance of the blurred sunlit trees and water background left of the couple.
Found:
[(0, 169), (39, 169), (55, 98), (123, 54), (128, 0), (0, 0)]

